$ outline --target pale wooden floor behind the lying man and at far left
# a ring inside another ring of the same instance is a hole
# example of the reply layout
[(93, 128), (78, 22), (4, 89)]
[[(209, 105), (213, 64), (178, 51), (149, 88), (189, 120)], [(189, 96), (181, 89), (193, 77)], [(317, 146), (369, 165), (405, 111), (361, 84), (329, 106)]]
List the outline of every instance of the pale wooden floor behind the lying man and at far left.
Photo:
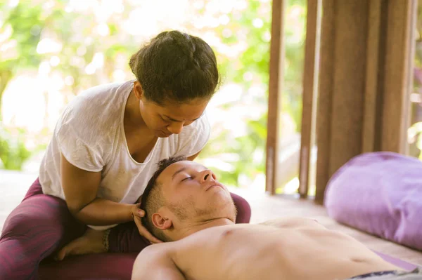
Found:
[[(36, 177), (36, 174), (0, 171), (0, 229), (3, 227), (7, 215), (20, 203)], [(245, 189), (231, 189), (231, 191), (240, 194), (250, 203), (252, 208), (251, 223), (264, 222), (289, 215), (314, 218), (330, 229), (350, 234), (375, 251), (401, 258), (416, 265), (422, 265), (421, 252), (340, 225), (328, 217), (323, 206), (316, 205), (313, 201), (294, 199), (291, 196), (268, 196), (260, 191), (252, 192)]]

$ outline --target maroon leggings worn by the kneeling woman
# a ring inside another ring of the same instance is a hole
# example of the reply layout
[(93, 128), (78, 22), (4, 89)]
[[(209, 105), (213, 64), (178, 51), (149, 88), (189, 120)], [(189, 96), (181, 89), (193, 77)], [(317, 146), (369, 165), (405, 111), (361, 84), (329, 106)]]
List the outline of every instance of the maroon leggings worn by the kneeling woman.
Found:
[[(231, 196), (238, 209), (236, 222), (249, 222), (248, 202), (236, 194)], [(72, 217), (65, 201), (43, 194), (39, 180), (35, 180), (4, 223), (0, 236), (0, 279), (38, 279), (41, 260), (84, 234), (86, 229), (86, 225)], [(148, 245), (134, 222), (110, 231), (110, 252), (139, 252)]]

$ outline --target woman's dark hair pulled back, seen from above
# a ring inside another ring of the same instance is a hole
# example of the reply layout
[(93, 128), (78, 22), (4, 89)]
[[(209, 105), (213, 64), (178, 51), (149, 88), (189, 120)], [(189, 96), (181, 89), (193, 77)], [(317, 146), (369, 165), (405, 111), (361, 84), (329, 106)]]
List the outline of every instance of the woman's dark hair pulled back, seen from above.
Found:
[(147, 100), (188, 102), (211, 98), (219, 84), (212, 48), (196, 36), (162, 32), (130, 58), (129, 66)]

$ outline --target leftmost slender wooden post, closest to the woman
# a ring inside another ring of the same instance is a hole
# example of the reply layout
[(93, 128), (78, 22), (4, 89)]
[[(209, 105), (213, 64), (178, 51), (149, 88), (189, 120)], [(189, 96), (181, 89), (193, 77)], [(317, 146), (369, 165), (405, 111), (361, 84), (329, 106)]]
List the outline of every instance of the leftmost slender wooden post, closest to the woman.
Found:
[(271, 21), (271, 45), (269, 58), (268, 120), (267, 120), (267, 161), (265, 189), (276, 193), (277, 166), (279, 163), (279, 129), (281, 110), (281, 88), (283, 83), (284, 0), (273, 0)]

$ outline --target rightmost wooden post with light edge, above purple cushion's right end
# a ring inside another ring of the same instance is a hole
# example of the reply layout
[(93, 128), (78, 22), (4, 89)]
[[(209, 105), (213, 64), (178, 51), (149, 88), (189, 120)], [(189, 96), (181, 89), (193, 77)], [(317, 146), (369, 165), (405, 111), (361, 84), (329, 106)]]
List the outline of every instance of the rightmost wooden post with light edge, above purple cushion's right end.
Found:
[(417, 0), (388, 1), (381, 149), (407, 154)]

